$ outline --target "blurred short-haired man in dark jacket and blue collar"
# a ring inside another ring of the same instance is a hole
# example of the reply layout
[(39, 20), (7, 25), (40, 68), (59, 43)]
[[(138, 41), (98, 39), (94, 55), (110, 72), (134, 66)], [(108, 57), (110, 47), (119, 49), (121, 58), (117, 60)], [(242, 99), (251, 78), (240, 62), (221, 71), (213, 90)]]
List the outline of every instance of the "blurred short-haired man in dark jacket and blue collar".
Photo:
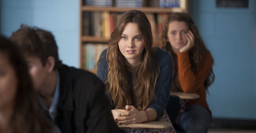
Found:
[(120, 133), (103, 83), (62, 64), (52, 33), (22, 25), (10, 40), (26, 58), (45, 115), (62, 133)]

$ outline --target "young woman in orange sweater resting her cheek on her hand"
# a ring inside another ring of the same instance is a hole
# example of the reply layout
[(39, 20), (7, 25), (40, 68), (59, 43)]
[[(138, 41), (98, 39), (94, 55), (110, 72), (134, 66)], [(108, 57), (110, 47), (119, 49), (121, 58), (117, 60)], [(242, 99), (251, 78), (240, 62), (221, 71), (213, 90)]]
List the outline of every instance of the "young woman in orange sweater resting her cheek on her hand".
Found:
[(172, 91), (200, 95), (182, 106), (178, 127), (186, 133), (206, 133), (211, 121), (206, 90), (214, 81), (214, 60), (187, 13), (170, 14), (162, 29), (160, 48), (170, 52), (174, 62)]

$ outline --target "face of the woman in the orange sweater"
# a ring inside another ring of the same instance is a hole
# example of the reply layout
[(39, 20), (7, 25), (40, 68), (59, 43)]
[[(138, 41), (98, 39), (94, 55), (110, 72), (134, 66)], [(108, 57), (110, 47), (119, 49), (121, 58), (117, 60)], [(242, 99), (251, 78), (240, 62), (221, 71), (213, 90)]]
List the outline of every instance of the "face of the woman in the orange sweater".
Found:
[(169, 23), (167, 38), (175, 53), (178, 53), (179, 50), (187, 44), (188, 32), (189, 28), (185, 22), (172, 21)]

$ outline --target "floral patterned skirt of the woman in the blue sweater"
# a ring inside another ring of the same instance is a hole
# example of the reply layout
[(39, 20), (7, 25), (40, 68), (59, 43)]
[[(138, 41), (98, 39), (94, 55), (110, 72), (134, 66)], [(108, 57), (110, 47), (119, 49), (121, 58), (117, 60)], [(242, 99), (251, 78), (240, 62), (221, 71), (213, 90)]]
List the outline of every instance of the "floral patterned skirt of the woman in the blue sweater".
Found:
[[(170, 118), (166, 111), (164, 110), (164, 115), (160, 118), (159, 121), (170, 121)], [(141, 128), (141, 129), (131, 129), (126, 128), (128, 133), (176, 133), (173, 125), (166, 129), (155, 129), (155, 128)]]

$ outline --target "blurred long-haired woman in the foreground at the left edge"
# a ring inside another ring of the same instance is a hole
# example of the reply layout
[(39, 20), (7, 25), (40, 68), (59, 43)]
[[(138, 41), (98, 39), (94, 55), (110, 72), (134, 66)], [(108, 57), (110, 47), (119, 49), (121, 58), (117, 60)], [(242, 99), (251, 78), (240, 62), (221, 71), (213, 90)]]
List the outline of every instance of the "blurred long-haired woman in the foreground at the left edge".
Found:
[(56, 133), (40, 108), (25, 59), (18, 48), (2, 36), (0, 133)]

